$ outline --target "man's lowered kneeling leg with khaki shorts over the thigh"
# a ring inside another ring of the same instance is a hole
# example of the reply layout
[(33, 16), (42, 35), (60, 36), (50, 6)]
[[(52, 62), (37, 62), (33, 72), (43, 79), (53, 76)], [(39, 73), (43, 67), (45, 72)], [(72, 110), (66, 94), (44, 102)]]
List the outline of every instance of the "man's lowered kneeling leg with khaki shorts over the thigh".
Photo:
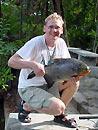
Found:
[(29, 87), (19, 90), (25, 103), (23, 110), (30, 112), (36, 110), (50, 115), (60, 115), (64, 113), (65, 104), (51, 93), (37, 87)]

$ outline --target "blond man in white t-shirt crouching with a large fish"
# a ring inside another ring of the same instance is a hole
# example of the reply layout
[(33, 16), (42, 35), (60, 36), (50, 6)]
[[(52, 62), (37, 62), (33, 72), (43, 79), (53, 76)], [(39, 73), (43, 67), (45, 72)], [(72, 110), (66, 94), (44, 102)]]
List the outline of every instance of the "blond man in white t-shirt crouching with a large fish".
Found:
[[(18, 119), (21, 122), (30, 122), (28, 114), (31, 110), (54, 115), (54, 121), (65, 126), (75, 128), (75, 121), (71, 122), (64, 115), (67, 104), (77, 91), (79, 81), (72, 78), (66, 83), (55, 83), (60, 98), (56, 98), (47, 88), (44, 65), (55, 58), (70, 58), (66, 43), (60, 38), (63, 33), (63, 20), (57, 13), (45, 19), (44, 35), (28, 41), (8, 61), (8, 66), (21, 69), (18, 92), (23, 102), (19, 106)], [(27, 79), (34, 71), (36, 77)], [(54, 90), (52, 90), (54, 91)]]

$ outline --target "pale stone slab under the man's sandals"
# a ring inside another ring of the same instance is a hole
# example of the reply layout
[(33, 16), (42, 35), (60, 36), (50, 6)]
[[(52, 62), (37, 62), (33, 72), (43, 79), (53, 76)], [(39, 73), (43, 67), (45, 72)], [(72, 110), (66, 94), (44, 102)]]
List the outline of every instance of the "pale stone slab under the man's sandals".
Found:
[[(98, 119), (80, 120), (80, 116), (94, 116), (90, 114), (69, 114), (67, 118), (74, 118), (78, 123), (78, 130), (88, 130), (96, 127)], [(98, 115), (96, 115), (98, 116)], [(10, 113), (6, 130), (72, 130), (53, 121), (52, 115), (31, 113), (31, 123), (21, 123), (18, 121), (18, 113)], [(76, 130), (76, 128), (73, 128)]]

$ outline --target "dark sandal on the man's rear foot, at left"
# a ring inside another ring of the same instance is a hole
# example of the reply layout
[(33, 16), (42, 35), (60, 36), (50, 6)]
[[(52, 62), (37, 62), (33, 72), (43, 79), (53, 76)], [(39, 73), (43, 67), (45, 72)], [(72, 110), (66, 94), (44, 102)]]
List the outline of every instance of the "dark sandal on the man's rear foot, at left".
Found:
[(23, 104), (25, 103), (25, 101), (22, 101), (19, 103), (18, 105), (18, 120), (20, 122), (23, 123), (30, 123), (31, 122), (31, 118), (29, 118), (28, 114), (30, 114), (30, 111), (26, 111), (23, 109)]

